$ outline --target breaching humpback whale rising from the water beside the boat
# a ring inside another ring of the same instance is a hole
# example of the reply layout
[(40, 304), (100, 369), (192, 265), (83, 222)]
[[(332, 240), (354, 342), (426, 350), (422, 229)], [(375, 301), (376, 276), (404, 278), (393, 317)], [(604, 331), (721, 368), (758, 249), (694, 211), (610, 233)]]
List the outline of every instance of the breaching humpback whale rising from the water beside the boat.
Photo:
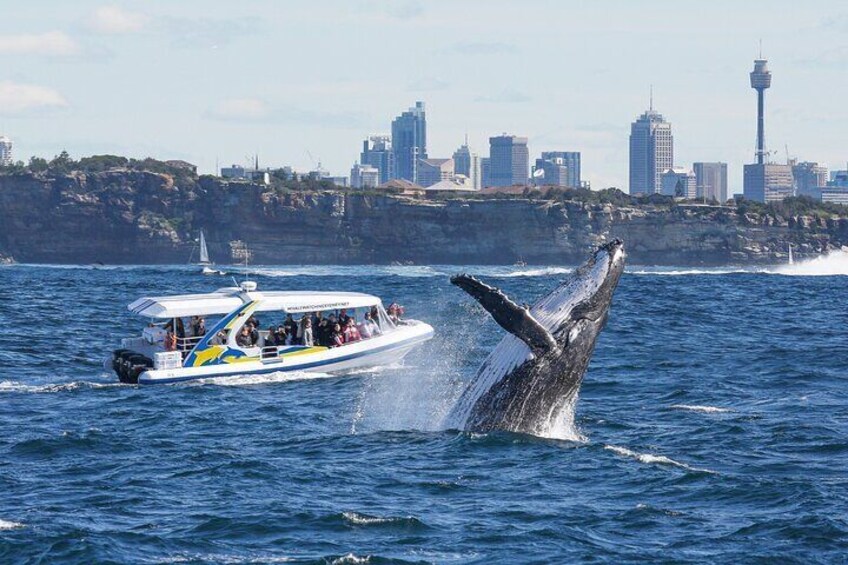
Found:
[(460, 396), (449, 427), (548, 435), (576, 401), (623, 270), (616, 239), (529, 307), (473, 276), (452, 277), (509, 334)]

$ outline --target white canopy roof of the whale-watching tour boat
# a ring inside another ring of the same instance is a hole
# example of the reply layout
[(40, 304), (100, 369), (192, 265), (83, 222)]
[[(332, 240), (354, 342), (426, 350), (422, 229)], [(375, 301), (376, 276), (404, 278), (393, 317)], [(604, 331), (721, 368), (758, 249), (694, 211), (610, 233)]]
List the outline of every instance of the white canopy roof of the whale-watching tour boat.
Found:
[(242, 292), (236, 287), (221, 288), (206, 294), (183, 294), (139, 298), (127, 309), (147, 318), (183, 318), (229, 314), (247, 301), (257, 300), (256, 312), (287, 313), (367, 308), (380, 304), (380, 299), (360, 292), (269, 291)]

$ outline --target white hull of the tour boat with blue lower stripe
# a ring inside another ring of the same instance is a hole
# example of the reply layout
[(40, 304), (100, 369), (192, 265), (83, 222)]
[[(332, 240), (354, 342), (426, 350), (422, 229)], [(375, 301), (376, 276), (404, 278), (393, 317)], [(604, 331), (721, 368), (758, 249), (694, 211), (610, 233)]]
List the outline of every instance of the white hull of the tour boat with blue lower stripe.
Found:
[(167, 384), (279, 372), (344, 373), (400, 361), (414, 347), (432, 337), (433, 328), (417, 322), (400, 326), (389, 334), (304, 355), (285, 356), (283, 350), (281, 357), (265, 360), (252, 359), (238, 363), (176, 369), (148, 369), (138, 376), (138, 384)]

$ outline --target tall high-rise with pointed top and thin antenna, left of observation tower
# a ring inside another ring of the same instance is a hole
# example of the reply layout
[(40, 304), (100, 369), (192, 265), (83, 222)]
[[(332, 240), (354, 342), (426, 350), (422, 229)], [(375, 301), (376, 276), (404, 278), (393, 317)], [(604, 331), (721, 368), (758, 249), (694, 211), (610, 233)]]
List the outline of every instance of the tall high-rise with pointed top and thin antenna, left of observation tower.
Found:
[(660, 192), (660, 176), (673, 166), (671, 123), (654, 110), (652, 100), (648, 111), (630, 126), (630, 194)]

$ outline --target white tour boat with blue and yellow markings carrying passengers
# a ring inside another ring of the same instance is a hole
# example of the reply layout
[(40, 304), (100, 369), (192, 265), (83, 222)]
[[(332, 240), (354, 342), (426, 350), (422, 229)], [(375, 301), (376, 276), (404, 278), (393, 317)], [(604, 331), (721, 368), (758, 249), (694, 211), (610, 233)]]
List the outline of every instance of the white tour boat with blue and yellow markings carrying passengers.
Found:
[[(113, 352), (107, 365), (122, 382), (138, 384), (287, 371), (343, 373), (395, 363), (434, 333), (424, 322), (393, 321), (375, 296), (356, 292), (259, 292), (252, 281), (208, 294), (140, 298), (128, 310), (147, 318), (148, 326), (140, 336), (124, 338), (121, 349)], [(295, 318), (322, 312), (329, 317), (342, 310), (357, 322), (363, 320), (366, 311), (373, 313), (377, 331), (372, 337), (337, 347), (265, 346), (267, 330), (258, 332), (258, 342), (252, 346), (241, 346), (236, 339), (254, 316), (273, 317), (272, 325), (277, 327), (286, 314)], [(168, 335), (166, 326), (188, 330), (184, 319), (192, 317), (218, 319), (210, 322), (201, 336), (173, 340)], [(166, 338), (171, 341), (170, 347), (166, 347)]]

